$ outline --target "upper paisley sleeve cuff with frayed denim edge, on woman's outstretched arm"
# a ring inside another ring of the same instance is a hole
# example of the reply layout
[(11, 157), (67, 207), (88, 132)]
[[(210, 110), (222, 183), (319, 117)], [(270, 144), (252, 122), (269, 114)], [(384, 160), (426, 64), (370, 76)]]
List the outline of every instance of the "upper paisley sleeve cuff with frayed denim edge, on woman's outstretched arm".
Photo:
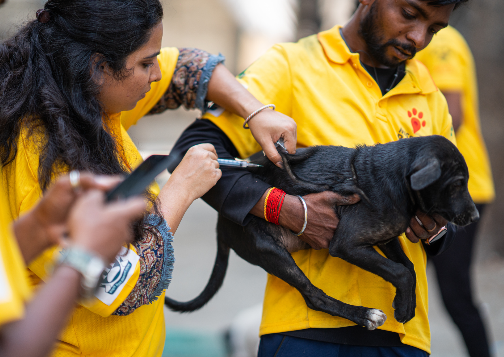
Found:
[(161, 113), (181, 105), (186, 109), (206, 111), (208, 83), (215, 66), (224, 62), (224, 56), (197, 48), (179, 48), (179, 53), (168, 90), (147, 114)]

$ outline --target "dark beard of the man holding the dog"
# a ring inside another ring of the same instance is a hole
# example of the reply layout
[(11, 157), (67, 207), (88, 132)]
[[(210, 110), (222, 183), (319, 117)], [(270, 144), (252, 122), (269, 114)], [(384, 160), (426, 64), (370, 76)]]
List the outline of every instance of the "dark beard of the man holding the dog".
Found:
[[(410, 58), (416, 54), (416, 47), (410, 44), (399, 42), (396, 38), (382, 43), (383, 37), (380, 36), (381, 30), (376, 25), (376, 3), (374, 2), (369, 9), (367, 15), (360, 22), (359, 35), (362, 36), (367, 45), (368, 55), (371, 60), (376, 60), (382, 65), (387, 67), (397, 67), (404, 60), (399, 60), (396, 57), (389, 58), (387, 56), (387, 49), (389, 46), (396, 46), (402, 48), (407, 53), (411, 53)], [(374, 66), (374, 65), (373, 65)]]

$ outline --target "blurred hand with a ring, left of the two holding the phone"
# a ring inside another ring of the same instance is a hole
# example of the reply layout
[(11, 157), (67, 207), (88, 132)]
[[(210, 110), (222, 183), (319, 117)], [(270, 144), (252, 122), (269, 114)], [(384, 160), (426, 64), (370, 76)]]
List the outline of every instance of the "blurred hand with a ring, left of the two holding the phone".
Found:
[(61, 242), (67, 231), (70, 207), (78, 195), (88, 189), (107, 191), (121, 178), (80, 173), (80, 188), (75, 190), (68, 175), (60, 177), (31, 211), (14, 223), (14, 232), (25, 262), (30, 262), (44, 249)]

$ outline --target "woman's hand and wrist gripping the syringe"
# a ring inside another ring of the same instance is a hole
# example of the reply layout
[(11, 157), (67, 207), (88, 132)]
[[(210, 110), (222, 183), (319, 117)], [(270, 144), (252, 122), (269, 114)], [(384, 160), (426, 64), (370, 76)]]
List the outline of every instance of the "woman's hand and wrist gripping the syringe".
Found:
[(170, 232), (175, 233), (187, 208), (215, 186), (221, 175), (212, 144), (195, 145), (187, 150), (158, 195), (159, 210)]

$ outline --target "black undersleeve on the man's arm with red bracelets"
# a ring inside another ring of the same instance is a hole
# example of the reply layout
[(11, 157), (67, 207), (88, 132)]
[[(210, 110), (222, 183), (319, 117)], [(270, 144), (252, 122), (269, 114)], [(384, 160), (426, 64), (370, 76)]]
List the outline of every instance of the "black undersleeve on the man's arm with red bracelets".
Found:
[[(219, 159), (234, 159), (238, 151), (227, 135), (208, 119), (197, 119), (180, 135), (173, 151), (181, 154), (198, 144), (209, 142)], [(173, 172), (175, 167), (169, 168)], [(222, 177), (203, 200), (230, 221), (245, 226), (253, 217), (248, 213), (270, 187), (247, 169), (221, 166)]]

